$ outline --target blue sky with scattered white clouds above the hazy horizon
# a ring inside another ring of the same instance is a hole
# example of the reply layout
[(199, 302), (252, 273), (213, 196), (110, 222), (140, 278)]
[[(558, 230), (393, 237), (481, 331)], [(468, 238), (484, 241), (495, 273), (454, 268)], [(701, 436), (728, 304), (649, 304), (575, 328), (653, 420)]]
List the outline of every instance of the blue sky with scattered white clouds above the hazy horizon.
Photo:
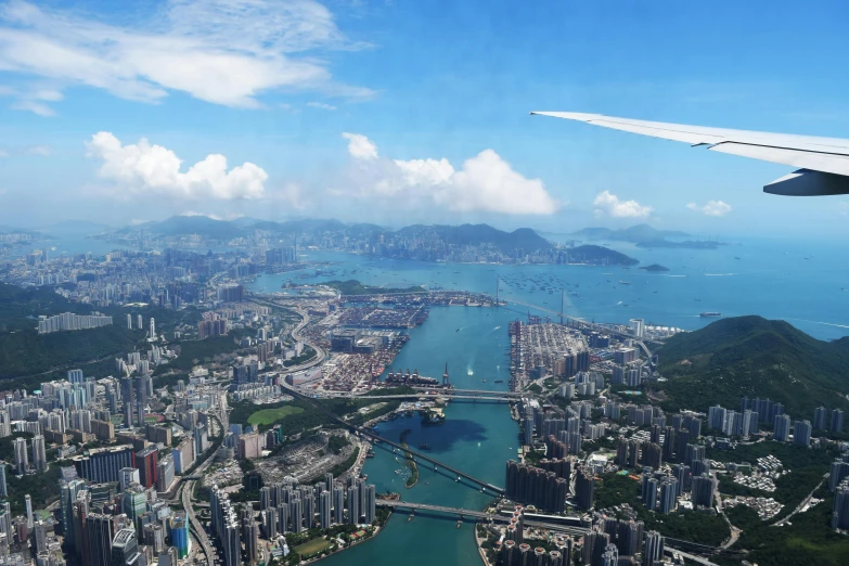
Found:
[(0, 223), (846, 234), (847, 197), (762, 193), (790, 167), (528, 112), (846, 138), (847, 21), (837, 1), (0, 1)]

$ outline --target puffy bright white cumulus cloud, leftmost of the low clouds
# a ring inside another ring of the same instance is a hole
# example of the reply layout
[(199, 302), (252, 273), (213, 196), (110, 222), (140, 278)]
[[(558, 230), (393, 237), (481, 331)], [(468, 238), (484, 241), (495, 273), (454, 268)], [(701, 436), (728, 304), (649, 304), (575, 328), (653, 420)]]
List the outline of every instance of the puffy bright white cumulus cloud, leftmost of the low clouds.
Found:
[(207, 155), (186, 172), (182, 160), (162, 145), (142, 138), (138, 144), (123, 145), (112, 133), (101, 131), (86, 143), (88, 155), (101, 159), (100, 177), (121, 190), (140, 194), (159, 194), (185, 200), (259, 198), (265, 194), (268, 175), (253, 163), (227, 170), (227, 158)]

